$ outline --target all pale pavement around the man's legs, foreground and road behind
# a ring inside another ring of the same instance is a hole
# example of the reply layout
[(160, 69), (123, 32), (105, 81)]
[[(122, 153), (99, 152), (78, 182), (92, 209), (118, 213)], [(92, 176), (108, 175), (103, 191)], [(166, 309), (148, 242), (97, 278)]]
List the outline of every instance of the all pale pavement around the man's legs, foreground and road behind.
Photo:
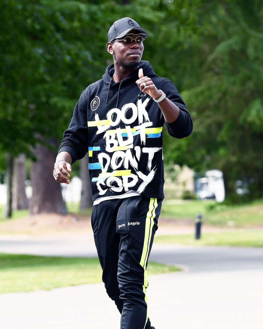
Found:
[[(0, 239), (0, 252), (96, 256), (92, 241)], [(150, 260), (185, 266), (149, 276), (156, 329), (261, 329), (263, 248), (153, 245)], [(103, 283), (0, 295), (3, 329), (117, 329), (120, 314)], [(15, 310), (15, 317), (13, 316)]]

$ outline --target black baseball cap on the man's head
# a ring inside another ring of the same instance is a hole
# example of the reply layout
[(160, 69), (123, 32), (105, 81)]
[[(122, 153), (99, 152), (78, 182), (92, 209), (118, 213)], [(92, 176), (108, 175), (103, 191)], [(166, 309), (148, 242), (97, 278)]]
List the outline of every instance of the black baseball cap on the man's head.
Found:
[(140, 33), (145, 33), (143, 38), (148, 37), (148, 33), (140, 27), (140, 25), (131, 17), (123, 17), (116, 20), (108, 31), (108, 42), (113, 41), (115, 38), (122, 38), (132, 29), (140, 31)]

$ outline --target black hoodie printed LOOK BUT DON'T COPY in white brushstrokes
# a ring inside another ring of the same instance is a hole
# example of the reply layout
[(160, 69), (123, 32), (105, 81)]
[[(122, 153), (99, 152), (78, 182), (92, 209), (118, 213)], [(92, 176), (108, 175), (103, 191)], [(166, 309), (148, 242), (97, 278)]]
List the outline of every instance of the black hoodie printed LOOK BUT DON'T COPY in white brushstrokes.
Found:
[[(174, 122), (167, 123), (158, 103), (138, 88), (139, 68), (179, 107)], [(187, 137), (193, 130), (191, 115), (174, 84), (158, 77), (148, 61), (140, 61), (136, 70), (117, 83), (113, 73), (112, 63), (102, 79), (81, 93), (58, 153), (68, 152), (73, 164), (88, 152), (93, 201), (129, 190), (164, 198), (163, 125), (170, 136)]]

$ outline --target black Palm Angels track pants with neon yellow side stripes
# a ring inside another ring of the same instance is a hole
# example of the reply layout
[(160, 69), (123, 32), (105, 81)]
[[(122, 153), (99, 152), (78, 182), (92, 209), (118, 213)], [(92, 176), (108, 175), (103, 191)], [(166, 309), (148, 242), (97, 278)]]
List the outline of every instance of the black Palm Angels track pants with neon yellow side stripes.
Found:
[(102, 281), (121, 329), (151, 329), (146, 270), (163, 199), (131, 196), (93, 205), (91, 225)]

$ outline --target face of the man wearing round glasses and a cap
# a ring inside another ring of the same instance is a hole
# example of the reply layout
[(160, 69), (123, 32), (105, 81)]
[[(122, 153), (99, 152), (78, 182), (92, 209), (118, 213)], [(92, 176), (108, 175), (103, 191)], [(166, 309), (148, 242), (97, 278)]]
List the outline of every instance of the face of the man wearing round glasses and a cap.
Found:
[[(142, 36), (138, 30), (133, 29), (124, 37), (119, 38), (119, 40), (124, 39), (128, 35), (134, 39), (137, 36)], [(137, 66), (142, 58), (142, 53), (144, 50), (143, 42), (136, 42), (134, 39), (131, 42), (116, 41), (112, 43), (108, 42), (107, 44), (108, 52), (114, 50), (113, 57), (115, 61), (120, 63), (122, 66)], [(111, 47), (109, 47), (110, 45)]]

